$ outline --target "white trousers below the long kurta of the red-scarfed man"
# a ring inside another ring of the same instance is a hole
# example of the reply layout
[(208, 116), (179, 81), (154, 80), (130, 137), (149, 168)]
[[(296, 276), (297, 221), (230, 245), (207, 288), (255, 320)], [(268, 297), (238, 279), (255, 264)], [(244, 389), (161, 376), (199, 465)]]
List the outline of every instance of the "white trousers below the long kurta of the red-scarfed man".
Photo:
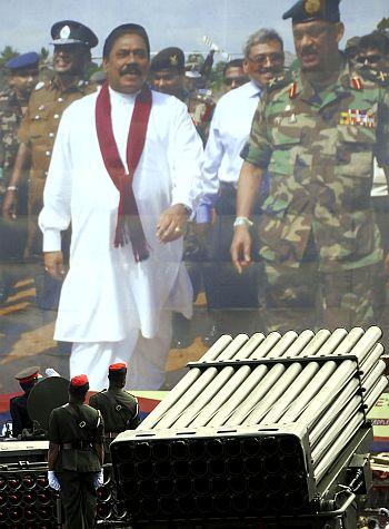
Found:
[(108, 388), (108, 368), (127, 362), (127, 383), (130, 390), (159, 390), (164, 383), (164, 366), (171, 342), (171, 311), (161, 312), (158, 333), (153, 339), (142, 336), (134, 329), (121, 342), (73, 343), (70, 355), (70, 376), (84, 373), (91, 390)]

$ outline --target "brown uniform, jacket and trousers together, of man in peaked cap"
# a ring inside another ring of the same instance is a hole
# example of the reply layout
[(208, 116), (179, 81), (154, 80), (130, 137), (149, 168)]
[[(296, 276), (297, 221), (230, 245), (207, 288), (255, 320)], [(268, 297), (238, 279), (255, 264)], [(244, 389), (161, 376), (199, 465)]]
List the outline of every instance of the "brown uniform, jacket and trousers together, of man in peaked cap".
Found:
[(31, 151), (31, 170), (29, 184), (29, 232), (27, 255), (41, 255), (41, 233), (38, 228), (38, 214), (43, 207), (43, 188), (48, 175), (51, 153), (58, 126), (63, 110), (77, 99), (96, 90), (82, 79), (74, 79), (66, 89), (57, 78), (38, 82), (31, 95), (27, 114), (19, 130), (19, 140)]

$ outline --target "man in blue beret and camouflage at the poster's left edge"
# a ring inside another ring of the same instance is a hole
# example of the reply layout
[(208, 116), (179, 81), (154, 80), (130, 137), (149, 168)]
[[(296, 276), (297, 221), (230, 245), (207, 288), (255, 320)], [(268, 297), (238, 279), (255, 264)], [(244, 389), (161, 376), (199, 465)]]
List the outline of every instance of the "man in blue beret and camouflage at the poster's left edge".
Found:
[[(39, 55), (34, 51), (22, 53), (6, 62), (8, 88), (0, 92), (0, 200), (7, 193), (14, 159), (18, 153), (18, 130), (26, 114), (29, 98), (38, 80)], [(27, 180), (27, 179), (26, 179)], [(27, 213), (27, 182), (19, 189), (20, 213)], [(23, 218), (18, 223), (0, 219), (0, 303), (7, 301), (14, 281), (13, 268), (4, 263), (20, 262), (26, 244)]]

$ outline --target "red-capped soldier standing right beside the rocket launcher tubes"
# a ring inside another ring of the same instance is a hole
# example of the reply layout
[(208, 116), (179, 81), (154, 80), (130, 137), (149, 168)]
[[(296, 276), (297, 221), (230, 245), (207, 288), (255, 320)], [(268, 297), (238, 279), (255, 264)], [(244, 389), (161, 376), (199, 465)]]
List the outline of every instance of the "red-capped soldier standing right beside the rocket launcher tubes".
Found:
[(127, 364), (116, 363), (108, 369), (108, 390), (102, 390), (89, 399), (89, 405), (100, 410), (104, 421), (106, 462), (110, 462), (110, 444), (120, 432), (134, 430), (139, 423), (138, 399), (123, 388)]

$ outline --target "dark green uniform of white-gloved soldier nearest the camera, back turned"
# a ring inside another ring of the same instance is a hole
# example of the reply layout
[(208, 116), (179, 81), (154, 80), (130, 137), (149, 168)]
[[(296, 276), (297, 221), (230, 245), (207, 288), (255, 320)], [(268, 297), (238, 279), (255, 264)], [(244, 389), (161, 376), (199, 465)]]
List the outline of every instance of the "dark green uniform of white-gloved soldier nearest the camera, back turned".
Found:
[(102, 444), (102, 438), (103, 422), (93, 408), (69, 403), (51, 412), (49, 441), (61, 447), (54, 472), (61, 486), (67, 529), (94, 527), (94, 479), (101, 464), (93, 445)]

